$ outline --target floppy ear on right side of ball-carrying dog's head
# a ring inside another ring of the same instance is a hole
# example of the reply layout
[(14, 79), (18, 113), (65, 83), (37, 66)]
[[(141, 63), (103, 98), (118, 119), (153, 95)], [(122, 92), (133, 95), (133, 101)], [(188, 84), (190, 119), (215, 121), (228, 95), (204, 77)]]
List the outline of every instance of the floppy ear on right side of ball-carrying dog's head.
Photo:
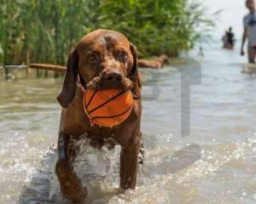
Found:
[(128, 78), (130, 78), (131, 82), (133, 83), (133, 87), (131, 89), (133, 98), (139, 99), (141, 97), (142, 80), (137, 70), (137, 48), (131, 42), (130, 49), (133, 56), (133, 65), (131, 67), (131, 71), (128, 74)]

